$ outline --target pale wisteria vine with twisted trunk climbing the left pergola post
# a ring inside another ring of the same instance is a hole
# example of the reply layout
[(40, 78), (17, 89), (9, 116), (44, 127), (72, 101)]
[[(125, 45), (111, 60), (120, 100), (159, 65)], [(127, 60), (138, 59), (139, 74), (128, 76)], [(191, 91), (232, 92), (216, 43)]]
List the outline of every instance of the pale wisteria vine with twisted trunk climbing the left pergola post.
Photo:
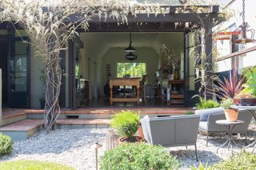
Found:
[[(0, 22), (21, 26), (36, 49), (35, 55), (46, 64), (45, 127), (48, 132), (60, 114), (58, 97), (62, 83), (59, 54), (66, 42), (78, 35), (78, 28), (87, 31), (90, 18), (115, 18), (127, 24), (127, 15), (138, 13), (164, 13), (156, 4), (122, 0), (0, 0)], [(77, 15), (75, 22), (69, 22)]]

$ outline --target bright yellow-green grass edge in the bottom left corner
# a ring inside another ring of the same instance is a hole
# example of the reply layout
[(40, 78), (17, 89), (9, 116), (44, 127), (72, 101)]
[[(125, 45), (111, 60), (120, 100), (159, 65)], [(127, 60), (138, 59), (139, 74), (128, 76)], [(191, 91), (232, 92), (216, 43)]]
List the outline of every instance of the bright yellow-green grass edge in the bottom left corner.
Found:
[(62, 164), (41, 162), (38, 160), (18, 160), (0, 163), (0, 169), (22, 169), (22, 170), (74, 170), (74, 168)]

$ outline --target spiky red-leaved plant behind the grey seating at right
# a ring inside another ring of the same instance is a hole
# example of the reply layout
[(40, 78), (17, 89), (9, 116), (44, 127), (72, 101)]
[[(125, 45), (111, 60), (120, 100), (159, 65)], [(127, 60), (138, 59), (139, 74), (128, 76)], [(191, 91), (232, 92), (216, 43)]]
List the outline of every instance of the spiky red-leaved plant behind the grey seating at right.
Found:
[(243, 76), (238, 77), (237, 70), (233, 70), (232, 73), (230, 71), (229, 79), (227, 79), (226, 77), (223, 77), (223, 78), (224, 78), (224, 81), (222, 81), (218, 77), (218, 85), (219, 85), (218, 96), (226, 99), (234, 98), (236, 94), (242, 91), (242, 84), (245, 77)]

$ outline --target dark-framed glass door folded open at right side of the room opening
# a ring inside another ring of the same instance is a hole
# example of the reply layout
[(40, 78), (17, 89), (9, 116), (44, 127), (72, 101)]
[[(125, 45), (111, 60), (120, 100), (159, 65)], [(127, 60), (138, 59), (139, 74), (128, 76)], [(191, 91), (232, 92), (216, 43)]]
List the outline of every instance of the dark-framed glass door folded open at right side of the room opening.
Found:
[(185, 106), (193, 107), (198, 98), (192, 98), (198, 94), (198, 85), (195, 83), (195, 58), (200, 55), (200, 36), (196, 33), (185, 34)]

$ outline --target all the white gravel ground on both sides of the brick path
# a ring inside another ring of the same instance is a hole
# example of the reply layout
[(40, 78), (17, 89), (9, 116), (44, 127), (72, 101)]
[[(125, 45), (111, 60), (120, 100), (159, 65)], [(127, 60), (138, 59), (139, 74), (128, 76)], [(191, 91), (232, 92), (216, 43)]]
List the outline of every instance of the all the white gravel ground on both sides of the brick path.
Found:
[[(66, 164), (77, 169), (95, 169), (95, 151), (90, 148), (98, 141), (105, 144), (106, 132), (110, 128), (78, 128), (58, 129), (47, 134), (46, 131), (36, 133), (28, 140), (14, 143), (14, 152), (10, 156), (4, 156), (1, 161), (10, 160), (46, 160)], [(256, 126), (250, 126), (249, 143), (254, 140)], [(242, 136), (242, 135), (241, 135)], [(206, 136), (198, 135), (198, 159), (202, 164), (214, 164), (220, 160), (226, 160), (231, 156), (227, 148), (217, 148), (224, 143), (225, 135), (210, 136), (209, 146), (206, 147)], [(237, 146), (234, 153), (239, 152), (245, 146), (245, 137), (235, 138)], [(250, 151), (252, 148), (248, 148)], [(102, 156), (105, 148), (99, 148), (99, 156)], [(256, 149), (255, 149), (256, 150)], [(256, 152), (256, 151), (254, 151)], [(182, 161), (181, 169), (190, 169), (190, 165), (198, 166), (195, 160), (194, 146), (170, 148), (170, 153)]]

